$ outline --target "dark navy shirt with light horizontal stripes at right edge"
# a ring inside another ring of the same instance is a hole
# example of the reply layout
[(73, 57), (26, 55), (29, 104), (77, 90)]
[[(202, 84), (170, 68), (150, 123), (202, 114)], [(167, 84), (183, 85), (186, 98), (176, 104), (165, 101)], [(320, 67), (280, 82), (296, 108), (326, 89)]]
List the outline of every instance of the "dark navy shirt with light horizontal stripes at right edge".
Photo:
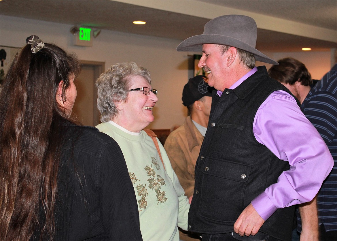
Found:
[(316, 127), (334, 158), (334, 167), (317, 196), (319, 224), (337, 230), (337, 64), (310, 90), (302, 103), (304, 115)]

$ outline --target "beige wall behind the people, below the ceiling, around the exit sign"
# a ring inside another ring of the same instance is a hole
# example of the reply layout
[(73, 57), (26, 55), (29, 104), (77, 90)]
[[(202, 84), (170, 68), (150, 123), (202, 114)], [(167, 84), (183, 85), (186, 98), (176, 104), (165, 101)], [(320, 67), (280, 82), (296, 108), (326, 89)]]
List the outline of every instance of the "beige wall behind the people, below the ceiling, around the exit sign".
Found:
[[(188, 55), (193, 53), (177, 52), (179, 40), (102, 30), (93, 40), (93, 47), (79, 47), (73, 45), (70, 27), (72, 26), (0, 16), (0, 45), (22, 47), (26, 43), (26, 37), (36, 34), (44, 42), (56, 43), (61, 48), (76, 53), (81, 60), (105, 62), (105, 68), (117, 62), (134, 61), (150, 70), (152, 87), (158, 90), (159, 101), (153, 109), (156, 119), (149, 128), (169, 129), (183, 123), (187, 111), (182, 105), (181, 93), (191, 74), (188, 71)], [(330, 51), (265, 54), (275, 60), (297, 58), (307, 65), (315, 79), (321, 78), (331, 66)], [(269, 67), (270, 65), (267, 69)]]

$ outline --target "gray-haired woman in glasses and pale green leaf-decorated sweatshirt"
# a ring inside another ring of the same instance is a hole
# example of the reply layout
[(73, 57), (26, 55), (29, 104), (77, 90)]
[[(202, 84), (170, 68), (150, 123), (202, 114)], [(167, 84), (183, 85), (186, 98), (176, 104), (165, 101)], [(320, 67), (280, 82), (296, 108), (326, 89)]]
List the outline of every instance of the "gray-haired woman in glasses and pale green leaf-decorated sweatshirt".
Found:
[(117, 141), (138, 201), (144, 240), (179, 240), (187, 230), (189, 203), (163, 146), (143, 129), (154, 121), (158, 101), (150, 72), (134, 62), (117, 63), (100, 75), (96, 127)]

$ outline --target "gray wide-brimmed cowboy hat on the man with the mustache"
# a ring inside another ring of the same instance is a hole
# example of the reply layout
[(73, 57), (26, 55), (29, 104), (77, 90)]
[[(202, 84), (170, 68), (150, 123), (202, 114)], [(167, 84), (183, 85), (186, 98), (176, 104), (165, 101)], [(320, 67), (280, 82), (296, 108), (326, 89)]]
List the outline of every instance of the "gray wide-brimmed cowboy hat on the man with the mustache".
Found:
[(252, 53), (257, 61), (278, 64), (264, 55), (256, 46), (257, 27), (255, 20), (244, 15), (223, 15), (212, 19), (204, 27), (204, 34), (182, 41), (177, 51), (202, 51), (204, 43), (232, 46)]

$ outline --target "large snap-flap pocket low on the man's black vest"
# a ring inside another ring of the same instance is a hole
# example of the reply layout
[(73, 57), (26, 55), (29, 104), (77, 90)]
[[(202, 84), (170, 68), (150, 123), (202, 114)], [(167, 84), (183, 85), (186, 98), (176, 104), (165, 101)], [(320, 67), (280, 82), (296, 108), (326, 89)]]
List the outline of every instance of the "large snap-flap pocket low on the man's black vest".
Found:
[(201, 216), (217, 221), (235, 222), (243, 209), (244, 194), (251, 166), (233, 161), (206, 158), (202, 188), (199, 190)]

